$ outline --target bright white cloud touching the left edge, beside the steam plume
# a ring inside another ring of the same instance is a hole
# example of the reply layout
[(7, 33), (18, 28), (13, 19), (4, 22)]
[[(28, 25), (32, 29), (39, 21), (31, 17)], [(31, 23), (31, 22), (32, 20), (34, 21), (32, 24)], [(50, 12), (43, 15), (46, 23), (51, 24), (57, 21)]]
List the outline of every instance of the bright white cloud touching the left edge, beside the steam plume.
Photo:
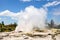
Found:
[(16, 19), (18, 18), (19, 13), (14, 13), (14, 12), (11, 12), (9, 10), (5, 10), (3, 12), (0, 12), (0, 16), (9, 16), (11, 17), (12, 19)]

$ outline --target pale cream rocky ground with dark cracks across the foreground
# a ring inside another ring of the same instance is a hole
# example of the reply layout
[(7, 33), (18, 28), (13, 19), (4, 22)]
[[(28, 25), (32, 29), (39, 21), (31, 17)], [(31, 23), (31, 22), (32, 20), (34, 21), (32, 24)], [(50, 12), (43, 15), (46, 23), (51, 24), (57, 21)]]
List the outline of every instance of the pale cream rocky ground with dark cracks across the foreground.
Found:
[(1, 32), (0, 40), (60, 40), (59, 32)]

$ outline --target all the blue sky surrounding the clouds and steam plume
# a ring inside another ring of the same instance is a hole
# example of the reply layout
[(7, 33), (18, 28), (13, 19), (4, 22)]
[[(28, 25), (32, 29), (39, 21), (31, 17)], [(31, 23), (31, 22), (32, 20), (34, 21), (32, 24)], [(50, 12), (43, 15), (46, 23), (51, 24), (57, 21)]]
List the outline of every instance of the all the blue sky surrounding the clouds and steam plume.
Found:
[[(43, 5), (52, 3), (54, 1), (60, 2), (59, 0), (0, 0), (0, 13), (9, 10), (11, 12), (17, 13), (24, 10), (26, 7), (32, 5), (36, 8), (41, 8)], [(56, 23), (60, 23), (60, 4), (47, 7), (47, 20), (53, 19)], [(59, 11), (57, 11), (59, 10)], [(17, 20), (11, 19), (11, 17), (0, 16), (0, 22), (4, 21), (5, 24), (10, 24), (17, 22)]]

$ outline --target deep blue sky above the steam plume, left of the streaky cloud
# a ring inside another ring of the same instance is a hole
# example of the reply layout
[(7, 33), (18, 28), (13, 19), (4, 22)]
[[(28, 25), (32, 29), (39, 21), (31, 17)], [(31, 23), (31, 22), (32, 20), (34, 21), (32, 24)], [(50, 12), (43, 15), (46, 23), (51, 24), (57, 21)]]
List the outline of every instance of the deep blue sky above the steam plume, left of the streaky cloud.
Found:
[(0, 11), (10, 10), (13, 12), (19, 12), (23, 10), (25, 7), (33, 5), (37, 8), (40, 8), (47, 1), (31, 1), (31, 2), (23, 2), (20, 0), (0, 0)]

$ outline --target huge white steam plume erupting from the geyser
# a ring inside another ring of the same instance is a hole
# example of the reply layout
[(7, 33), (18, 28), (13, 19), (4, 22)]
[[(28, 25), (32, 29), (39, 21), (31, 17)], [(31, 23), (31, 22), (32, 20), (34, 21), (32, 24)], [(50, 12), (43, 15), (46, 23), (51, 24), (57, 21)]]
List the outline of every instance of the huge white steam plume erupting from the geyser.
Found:
[(26, 7), (24, 11), (20, 12), (18, 26), (15, 31), (30, 32), (33, 27), (46, 28), (46, 15), (47, 10), (45, 8), (35, 8), (34, 6)]

